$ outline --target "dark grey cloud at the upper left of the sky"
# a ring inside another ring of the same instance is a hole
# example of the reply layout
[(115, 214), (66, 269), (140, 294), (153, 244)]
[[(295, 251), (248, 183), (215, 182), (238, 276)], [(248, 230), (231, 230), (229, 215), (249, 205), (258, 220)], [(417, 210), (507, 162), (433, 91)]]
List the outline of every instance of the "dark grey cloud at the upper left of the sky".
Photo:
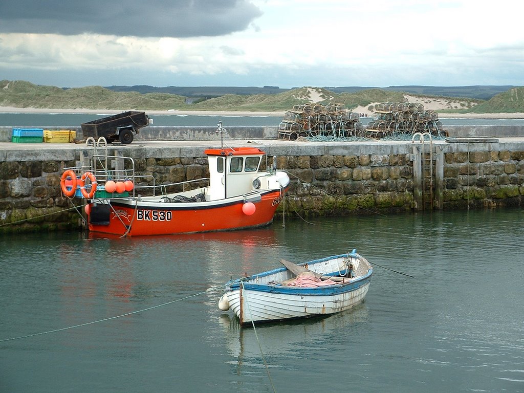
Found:
[(0, 32), (222, 36), (246, 29), (260, 15), (249, 0), (2, 0)]

